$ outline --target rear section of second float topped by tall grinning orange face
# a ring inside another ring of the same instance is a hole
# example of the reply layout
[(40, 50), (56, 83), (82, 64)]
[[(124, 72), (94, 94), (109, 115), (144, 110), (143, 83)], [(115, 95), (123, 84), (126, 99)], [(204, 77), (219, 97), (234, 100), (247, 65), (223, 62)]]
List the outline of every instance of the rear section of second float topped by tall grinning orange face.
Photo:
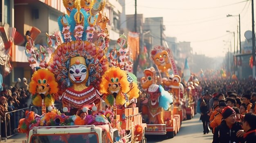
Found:
[[(184, 92), (182, 92), (180, 76), (178, 75), (177, 66), (171, 50), (164, 46), (154, 46), (150, 53), (150, 59), (157, 67), (161, 84), (163, 84), (165, 90), (173, 94), (175, 99), (174, 112), (180, 114), (180, 120), (183, 121), (186, 119), (186, 101), (184, 101), (183, 97), (181, 97)], [(173, 80), (174, 76), (178, 77), (178, 80)]]

